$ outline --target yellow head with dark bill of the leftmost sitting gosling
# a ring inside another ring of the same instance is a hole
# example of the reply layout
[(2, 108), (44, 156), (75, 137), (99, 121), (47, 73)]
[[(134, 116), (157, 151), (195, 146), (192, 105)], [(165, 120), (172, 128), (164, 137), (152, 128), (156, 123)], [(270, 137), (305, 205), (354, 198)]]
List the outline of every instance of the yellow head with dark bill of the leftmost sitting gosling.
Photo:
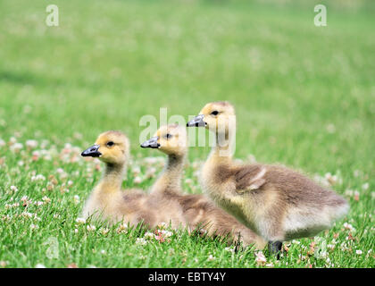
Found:
[(106, 131), (99, 135), (95, 145), (81, 156), (98, 157), (106, 164), (124, 164), (129, 155), (129, 139), (120, 131)]

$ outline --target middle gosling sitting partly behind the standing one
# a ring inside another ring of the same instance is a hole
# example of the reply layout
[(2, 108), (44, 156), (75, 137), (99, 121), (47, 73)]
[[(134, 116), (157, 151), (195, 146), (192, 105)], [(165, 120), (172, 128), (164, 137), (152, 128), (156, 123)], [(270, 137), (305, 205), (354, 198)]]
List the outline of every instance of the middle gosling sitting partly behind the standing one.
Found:
[(153, 138), (141, 147), (157, 148), (168, 156), (162, 175), (155, 181), (151, 196), (157, 194), (169, 201), (176, 201), (181, 206), (189, 230), (206, 231), (208, 236), (226, 237), (228, 242), (254, 244), (261, 249), (267, 244), (260, 236), (249, 230), (237, 219), (221, 208), (214, 206), (203, 195), (183, 195), (181, 176), (187, 156), (186, 129), (179, 125), (162, 126)]

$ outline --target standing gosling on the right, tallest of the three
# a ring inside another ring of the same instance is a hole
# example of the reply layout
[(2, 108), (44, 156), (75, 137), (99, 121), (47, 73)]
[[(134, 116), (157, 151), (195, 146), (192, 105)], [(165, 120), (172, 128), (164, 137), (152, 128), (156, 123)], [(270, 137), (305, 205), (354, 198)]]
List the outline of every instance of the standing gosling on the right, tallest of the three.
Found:
[(187, 127), (204, 126), (215, 145), (202, 169), (202, 186), (222, 208), (269, 241), (277, 254), (282, 241), (312, 237), (347, 214), (344, 198), (306, 176), (278, 165), (234, 164), (236, 115), (228, 102), (204, 106)]

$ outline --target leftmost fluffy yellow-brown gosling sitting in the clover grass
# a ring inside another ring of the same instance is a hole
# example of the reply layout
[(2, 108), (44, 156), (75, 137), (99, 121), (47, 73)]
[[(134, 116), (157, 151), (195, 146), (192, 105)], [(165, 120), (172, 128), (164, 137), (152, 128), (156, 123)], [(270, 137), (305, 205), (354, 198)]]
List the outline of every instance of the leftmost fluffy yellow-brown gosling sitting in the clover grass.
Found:
[(98, 157), (105, 164), (103, 178), (87, 199), (83, 217), (93, 216), (109, 223), (142, 223), (146, 228), (154, 228), (160, 223), (171, 223), (174, 229), (185, 225), (182, 215), (176, 215), (179, 204), (165, 203), (165, 199), (158, 196), (150, 198), (141, 189), (121, 190), (129, 158), (129, 139), (120, 131), (102, 133), (95, 145), (83, 151), (81, 156)]

